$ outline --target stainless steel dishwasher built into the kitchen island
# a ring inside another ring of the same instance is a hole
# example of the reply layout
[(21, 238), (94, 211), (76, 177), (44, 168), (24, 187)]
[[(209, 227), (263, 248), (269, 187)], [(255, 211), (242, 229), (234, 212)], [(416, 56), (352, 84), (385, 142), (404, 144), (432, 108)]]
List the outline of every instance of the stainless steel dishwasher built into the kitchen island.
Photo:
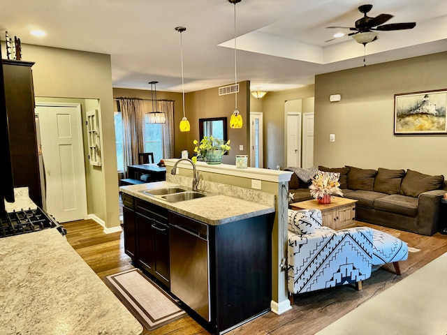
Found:
[(208, 226), (170, 212), (170, 290), (211, 321)]

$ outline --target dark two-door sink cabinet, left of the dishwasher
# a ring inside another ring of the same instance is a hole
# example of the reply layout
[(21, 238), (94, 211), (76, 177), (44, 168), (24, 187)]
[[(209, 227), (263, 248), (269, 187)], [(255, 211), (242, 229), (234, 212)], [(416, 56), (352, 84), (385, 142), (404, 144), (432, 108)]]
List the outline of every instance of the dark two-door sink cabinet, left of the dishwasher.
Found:
[(135, 199), (135, 226), (138, 265), (169, 288), (168, 209)]

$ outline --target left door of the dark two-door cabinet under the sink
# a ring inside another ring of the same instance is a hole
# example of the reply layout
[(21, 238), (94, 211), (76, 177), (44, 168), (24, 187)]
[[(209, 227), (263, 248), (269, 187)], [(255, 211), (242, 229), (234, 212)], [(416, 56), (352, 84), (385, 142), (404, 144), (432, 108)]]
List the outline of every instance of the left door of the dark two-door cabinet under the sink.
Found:
[(147, 218), (141, 214), (135, 214), (135, 221), (137, 227), (137, 248), (138, 248), (138, 265), (154, 274), (154, 229), (152, 218)]

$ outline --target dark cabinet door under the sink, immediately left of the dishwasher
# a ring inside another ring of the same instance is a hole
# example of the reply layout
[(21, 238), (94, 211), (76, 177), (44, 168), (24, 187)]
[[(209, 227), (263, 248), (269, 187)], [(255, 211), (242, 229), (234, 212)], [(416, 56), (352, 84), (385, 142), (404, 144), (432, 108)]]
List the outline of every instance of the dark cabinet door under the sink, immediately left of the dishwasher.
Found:
[(169, 287), (169, 226), (154, 221), (154, 276)]

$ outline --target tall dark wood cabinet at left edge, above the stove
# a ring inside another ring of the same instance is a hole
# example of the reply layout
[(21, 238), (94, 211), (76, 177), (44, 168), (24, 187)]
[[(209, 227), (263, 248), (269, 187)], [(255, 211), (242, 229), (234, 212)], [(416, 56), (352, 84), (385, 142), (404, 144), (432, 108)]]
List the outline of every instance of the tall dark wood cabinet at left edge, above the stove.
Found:
[(34, 120), (33, 62), (3, 59), (6, 110), (14, 187), (29, 187), (30, 198), (42, 206), (36, 121)]

